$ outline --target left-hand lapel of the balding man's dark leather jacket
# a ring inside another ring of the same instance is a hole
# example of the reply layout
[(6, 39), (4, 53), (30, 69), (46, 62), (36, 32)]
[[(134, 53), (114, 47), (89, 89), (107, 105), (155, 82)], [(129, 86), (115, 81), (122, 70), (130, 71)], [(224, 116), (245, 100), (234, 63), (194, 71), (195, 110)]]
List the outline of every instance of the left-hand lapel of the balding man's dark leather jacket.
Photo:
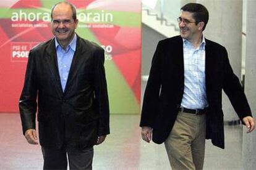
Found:
[(49, 70), (53, 78), (54, 85), (58, 91), (59, 97), (62, 97), (61, 79), (59, 78), (58, 61), (56, 56), (55, 41), (54, 38), (49, 42), (49, 46), (46, 47), (46, 60), (49, 65)]

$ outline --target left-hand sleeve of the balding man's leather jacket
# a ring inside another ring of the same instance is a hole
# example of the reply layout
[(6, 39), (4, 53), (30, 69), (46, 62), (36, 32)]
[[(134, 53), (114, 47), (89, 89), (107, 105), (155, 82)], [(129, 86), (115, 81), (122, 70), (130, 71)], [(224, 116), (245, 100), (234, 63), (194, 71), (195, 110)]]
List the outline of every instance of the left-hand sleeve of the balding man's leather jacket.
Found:
[(35, 129), (36, 117), (36, 73), (35, 73), (35, 55), (32, 51), (28, 55), (27, 70), (25, 73), (25, 81), (22, 89), (22, 94), (19, 100), (20, 118), (22, 121), (22, 131), (25, 134), (27, 129)]

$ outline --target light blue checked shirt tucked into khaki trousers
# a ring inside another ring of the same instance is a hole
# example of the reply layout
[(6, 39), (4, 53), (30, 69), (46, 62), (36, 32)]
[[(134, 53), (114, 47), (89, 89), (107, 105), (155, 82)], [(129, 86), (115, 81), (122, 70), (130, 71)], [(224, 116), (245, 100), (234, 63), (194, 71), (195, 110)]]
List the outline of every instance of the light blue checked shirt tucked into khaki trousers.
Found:
[(197, 49), (183, 39), (184, 95), (181, 107), (203, 109), (208, 106), (205, 89), (205, 38)]

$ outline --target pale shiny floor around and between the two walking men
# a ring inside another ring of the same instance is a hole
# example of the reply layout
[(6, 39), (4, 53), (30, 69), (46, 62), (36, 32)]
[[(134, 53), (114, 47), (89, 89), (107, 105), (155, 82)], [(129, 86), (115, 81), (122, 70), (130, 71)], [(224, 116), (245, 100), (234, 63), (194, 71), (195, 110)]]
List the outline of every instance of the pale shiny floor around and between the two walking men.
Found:
[[(171, 169), (163, 145), (140, 139), (139, 115), (111, 115), (111, 134), (95, 147), (93, 169)], [(0, 169), (42, 169), (38, 145), (22, 136), (19, 114), (0, 113)], [(242, 169), (242, 126), (225, 126), (225, 150), (207, 140), (204, 169)]]

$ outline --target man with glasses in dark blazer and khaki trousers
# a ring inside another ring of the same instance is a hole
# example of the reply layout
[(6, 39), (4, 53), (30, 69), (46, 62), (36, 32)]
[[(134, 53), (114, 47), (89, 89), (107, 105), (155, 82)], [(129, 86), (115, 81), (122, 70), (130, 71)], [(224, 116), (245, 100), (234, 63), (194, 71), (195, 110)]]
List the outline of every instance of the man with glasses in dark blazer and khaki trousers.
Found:
[(142, 139), (164, 142), (172, 169), (202, 169), (205, 139), (224, 148), (222, 90), (248, 132), (254, 130), (254, 119), (226, 49), (203, 36), (208, 10), (189, 3), (177, 20), (181, 35), (160, 41), (153, 55)]

